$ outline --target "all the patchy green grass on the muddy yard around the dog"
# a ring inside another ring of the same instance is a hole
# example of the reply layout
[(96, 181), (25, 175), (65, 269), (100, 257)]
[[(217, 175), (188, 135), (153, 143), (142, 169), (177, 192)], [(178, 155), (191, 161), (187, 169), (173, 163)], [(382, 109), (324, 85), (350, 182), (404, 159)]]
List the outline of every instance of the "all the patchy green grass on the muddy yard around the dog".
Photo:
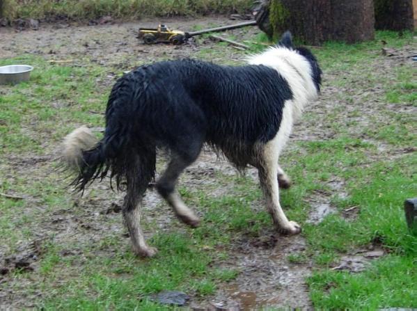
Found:
[[(288, 264), (314, 265), (308, 285), (317, 309), (417, 308), (417, 237), (407, 230), (402, 209), (405, 198), (416, 196), (417, 154), (404, 150), (417, 145), (417, 135), (415, 118), (396, 110), (416, 104), (414, 67), (391, 64), (391, 70), (381, 74), (379, 64), (385, 61), (381, 40), (401, 49), (413, 39), (411, 33), (399, 38), (396, 33), (377, 32), (372, 42), (329, 42), (314, 49), (324, 69), (323, 96), (336, 91), (322, 101), (328, 104), (324, 116), (313, 110), (303, 122), (311, 134), (323, 129), (332, 135), (292, 142), (281, 160), (294, 182), (281, 192), (281, 203), (288, 218), (303, 225), (307, 243), (306, 250), (285, 258)], [(248, 42), (251, 52), (265, 48), (262, 42), (265, 38)], [(236, 63), (226, 60), (228, 49), (205, 47), (196, 57)], [(136, 62), (132, 56), (125, 66)], [(145, 225), (149, 243), (159, 253), (150, 260), (138, 259), (128, 239), (114, 230), (120, 227), (121, 216), (102, 213), (109, 200), (120, 200), (120, 195), (94, 189), (83, 200), (75, 200), (65, 189), (63, 175), (54, 170), (53, 157), (29, 165), (19, 162), (52, 154), (74, 127), (102, 126), (97, 112), (104, 111), (110, 88), (102, 81), (108, 72), (123, 68), (117, 60), (97, 65), (88, 56), (65, 66), (36, 56), (0, 58), (0, 65), (10, 63), (31, 63), (36, 70), (29, 82), (0, 90), (0, 192), (29, 198), (0, 196), (0, 250), (12, 255), (37, 234), (46, 239), (41, 241), (36, 273), (15, 271), (13, 280), (1, 283), (0, 290), (24, 292), (46, 310), (166, 310), (151, 300), (152, 295), (175, 289), (203, 300), (235, 281), (241, 271), (224, 264), (233, 247), (273, 230), (251, 177), (216, 170), (211, 184), (180, 186), (185, 202), (203, 215), (202, 224), (191, 230), (173, 221), (160, 228), (149, 217)], [(379, 150), (380, 145), (385, 150)], [(347, 196), (331, 187), (335, 179), (343, 182)], [(327, 193), (323, 196), (338, 212), (313, 225), (306, 220), (310, 198), (317, 192)], [(343, 216), (349, 207), (356, 207), (355, 218)], [(164, 208), (147, 213), (153, 216)], [(65, 237), (59, 217), (69, 221), (78, 235)], [(44, 232), (47, 228), (52, 229)], [(372, 243), (389, 255), (374, 260), (362, 273), (331, 270), (341, 256)]]

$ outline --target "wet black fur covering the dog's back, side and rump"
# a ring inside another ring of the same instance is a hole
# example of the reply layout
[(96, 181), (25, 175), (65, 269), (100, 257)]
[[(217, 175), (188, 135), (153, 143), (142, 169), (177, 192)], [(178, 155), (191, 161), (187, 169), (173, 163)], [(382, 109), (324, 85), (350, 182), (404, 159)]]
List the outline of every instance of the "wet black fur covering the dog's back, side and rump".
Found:
[[(152, 158), (157, 147), (168, 147), (194, 161), (205, 142), (244, 168), (253, 163), (255, 143), (274, 138), (288, 99), (288, 83), (263, 65), (182, 60), (139, 67), (113, 86), (104, 138), (94, 150), (84, 152), (87, 165), (81, 167), (77, 184), (84, 189), (109, 168), (119, 184), (133, 150), (138, 157)], [(155, 164), (147, 164), (146, 170), (152, 170), (146, 172), (148, 180)]]

